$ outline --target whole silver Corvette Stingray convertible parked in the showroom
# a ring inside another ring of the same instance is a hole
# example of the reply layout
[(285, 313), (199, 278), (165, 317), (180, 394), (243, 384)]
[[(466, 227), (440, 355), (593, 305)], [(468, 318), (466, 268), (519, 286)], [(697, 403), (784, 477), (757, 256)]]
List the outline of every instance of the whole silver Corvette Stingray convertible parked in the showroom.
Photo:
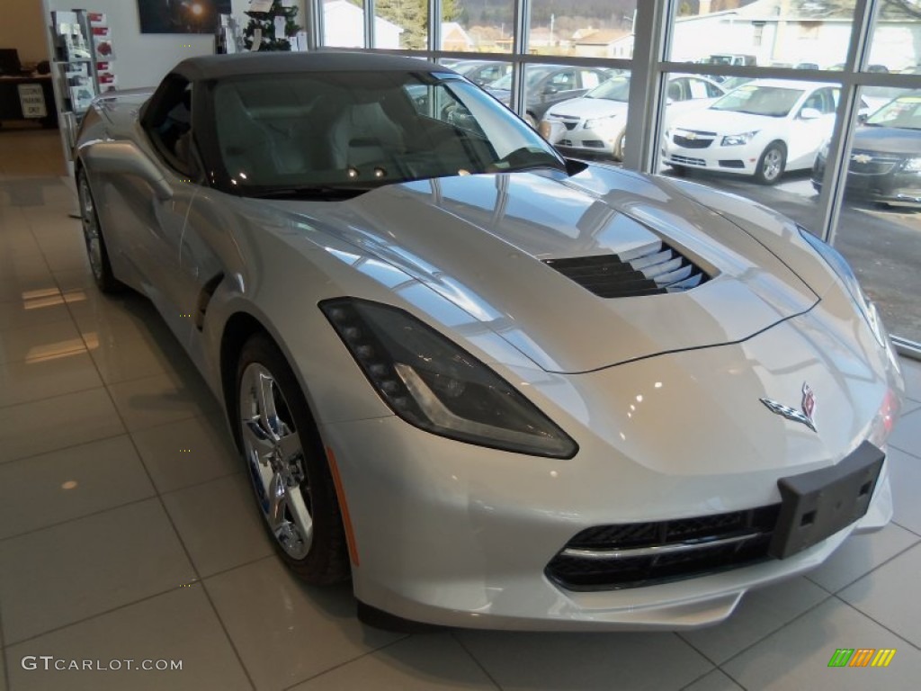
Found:
[(368, 622), (710, 624), (892, 516), (898, 359), (764, 206), (372, 54), (187, 60), (75, 153), (99, 288), (153, 301), (281, 558)]

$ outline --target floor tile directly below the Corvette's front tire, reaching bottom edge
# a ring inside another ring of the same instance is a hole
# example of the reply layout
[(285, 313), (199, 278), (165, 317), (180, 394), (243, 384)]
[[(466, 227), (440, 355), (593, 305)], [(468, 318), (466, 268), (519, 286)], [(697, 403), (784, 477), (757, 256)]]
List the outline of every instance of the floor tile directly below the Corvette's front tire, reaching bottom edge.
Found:
[(306, 681), (401, 638), (358, 622), (350, 586), (306, 587), (275, 558), (204, 584), (261, 690)]

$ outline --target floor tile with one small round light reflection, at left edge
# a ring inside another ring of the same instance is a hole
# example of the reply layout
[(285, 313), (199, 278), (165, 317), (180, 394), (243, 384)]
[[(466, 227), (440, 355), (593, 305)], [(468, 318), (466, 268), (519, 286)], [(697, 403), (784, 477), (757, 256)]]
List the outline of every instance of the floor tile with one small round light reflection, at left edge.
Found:
[(0, 539), (152, 497), (127, 436), (0, 464)]

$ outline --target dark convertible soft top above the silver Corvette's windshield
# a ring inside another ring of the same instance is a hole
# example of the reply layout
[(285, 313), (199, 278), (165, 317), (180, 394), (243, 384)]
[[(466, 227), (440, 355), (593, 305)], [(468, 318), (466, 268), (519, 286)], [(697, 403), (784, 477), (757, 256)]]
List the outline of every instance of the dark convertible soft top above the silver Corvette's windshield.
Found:
[(239, 75), (272, 75), (291, 72), (352, 72), (393, 70), (399, 72), (449, 72), (447, 67), (416, 58), (379, 53), (317, 51), (314, 53), (234, 53), (202, 55), (177, 64), (172, 72), (189, 81), (221, 79)]

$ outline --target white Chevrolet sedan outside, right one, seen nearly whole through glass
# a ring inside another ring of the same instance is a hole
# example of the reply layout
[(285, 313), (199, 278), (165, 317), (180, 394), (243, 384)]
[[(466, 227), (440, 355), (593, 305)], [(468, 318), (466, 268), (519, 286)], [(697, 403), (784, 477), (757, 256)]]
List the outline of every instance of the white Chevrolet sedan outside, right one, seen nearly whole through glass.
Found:
[(665, 132), (663, 161), (752, 175), (775, 184), (786, 170), (810, 168), (831, 134), (840, 88), (759, 79), (729, 92), (703, 111), (675, 118)]

